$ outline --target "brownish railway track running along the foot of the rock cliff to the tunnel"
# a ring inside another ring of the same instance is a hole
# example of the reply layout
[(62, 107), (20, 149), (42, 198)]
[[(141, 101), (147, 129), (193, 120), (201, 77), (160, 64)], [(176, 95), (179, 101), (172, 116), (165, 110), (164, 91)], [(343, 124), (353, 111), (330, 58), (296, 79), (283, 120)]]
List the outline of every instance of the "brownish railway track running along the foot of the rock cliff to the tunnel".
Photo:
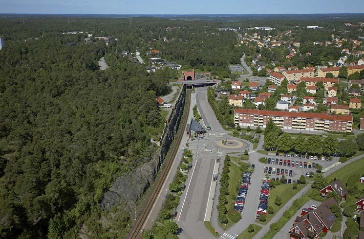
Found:
[(146, 204), (146, 206), (144, 207), (142, 213), (140, 214), (140, 216), (138, 217), (137, 221), (135, 222), (134, 227), (131, 229), (131, 232), (128, 236), (128, 239), (137, 239), (137, 238), (142, 238), (142, 234), (141, 234), (141, 230), (142, 227), (145, 223), (145, 221), (147, 220), (148, 214), (150, 212), (151, 207), (153, 206), (154, 202), (156, 201), (159, 191), (161, 190), (164, 181), (166, 180), (166, 177), (168, 175), (168, 172), (171, 169), (171, 166), (173, 164), (173, 160), (178, 152), (178, 147), (181, 144), (181, 140), (183, 137), (183, 133), (186, 129), (187, 126), (187, 122), (188, 122), (188, 110), (190, 109), (190, 105), (191, 105), (191, 89), (187, 89), (186, 90), (186, 99), (187, 99), (187, 115), (182, 116), (183, 117), (183, 122), (182, 125), (179, 127), (179, 130), (177, 132), (177, 136), (175, 138), (174, 141), (174, 146), (173, 148), (171, 148), (171, 155), (170, 157), (167, 159), (166, 165), (164, 166), (164, 168), (161, 171), (161, 175), (158, 178), (155, 187), (153, 188), (153, 191), (150, 195), (150, 198), (148, 199), (148, 202)]

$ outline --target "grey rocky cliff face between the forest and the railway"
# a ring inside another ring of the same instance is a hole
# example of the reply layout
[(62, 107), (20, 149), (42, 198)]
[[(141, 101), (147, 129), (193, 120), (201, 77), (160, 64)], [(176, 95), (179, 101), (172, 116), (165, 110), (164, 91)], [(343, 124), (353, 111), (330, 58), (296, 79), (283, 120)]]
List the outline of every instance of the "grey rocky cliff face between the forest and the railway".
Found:
[[(183, 88), (160, 141), (160, 147), (154, 157), (143, 165), (117, 178), (105, 193), (101, 206), (109, 210), (116, 204), (126, 205), (125, 210), (131, 215), (136, 210), (136, 202), (155, 180), (155, 176), (162, 165), (171, 143), (178, 129), (185, 104), (186, 89)], [(185, 129), (182, 129), (185, 130)], [(145, 162), (145, 161), (144, 161)]]

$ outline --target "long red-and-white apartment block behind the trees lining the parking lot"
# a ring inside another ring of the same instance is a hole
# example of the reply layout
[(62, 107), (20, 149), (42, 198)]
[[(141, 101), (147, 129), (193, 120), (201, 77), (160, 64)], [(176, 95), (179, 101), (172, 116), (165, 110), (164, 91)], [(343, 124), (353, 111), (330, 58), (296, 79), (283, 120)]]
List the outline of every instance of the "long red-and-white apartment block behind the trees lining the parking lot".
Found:
[(234, 113), (235, 124), (240, 127), (265, 128), (269, 118), (281, 129), (351, 132), (353, 126), (351, 115), (254, 109), (235, 109)]

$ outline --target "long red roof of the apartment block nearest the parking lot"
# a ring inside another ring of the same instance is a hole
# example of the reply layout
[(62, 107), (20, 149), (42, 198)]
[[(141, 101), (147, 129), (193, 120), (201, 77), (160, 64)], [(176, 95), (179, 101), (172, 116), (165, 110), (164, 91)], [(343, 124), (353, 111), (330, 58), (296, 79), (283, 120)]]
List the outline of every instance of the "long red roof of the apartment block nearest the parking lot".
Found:
[(258, 114), (266, 116), (281, 116), (281, 117), (303, 117), (313, 119), (326, 119), (337, 121), (353, 121), (351, 115), (330, 115), (323, 113), (303, 113), (303, 112), (288, 112), (288, 111), (274, 111), (274, 110), (254, 110), (254, 109), (235, 109), (235, 113), (245, 114)]

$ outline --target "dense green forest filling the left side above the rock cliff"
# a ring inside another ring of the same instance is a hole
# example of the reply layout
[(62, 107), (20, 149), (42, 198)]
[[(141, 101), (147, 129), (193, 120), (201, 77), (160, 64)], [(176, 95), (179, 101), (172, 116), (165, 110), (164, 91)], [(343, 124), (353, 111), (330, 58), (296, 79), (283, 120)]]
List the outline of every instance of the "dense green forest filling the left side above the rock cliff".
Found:
[(101, 42), (64, 45), (75, 36), (12, 39), (12, 28), (26, 39), (33, 26), (1, 27), (0, 238), (76, 237), (111, 182), (154, 154), (150, 135), (164, 126), (155, 97), (169, 92), (169, 73), (148, 76)]

